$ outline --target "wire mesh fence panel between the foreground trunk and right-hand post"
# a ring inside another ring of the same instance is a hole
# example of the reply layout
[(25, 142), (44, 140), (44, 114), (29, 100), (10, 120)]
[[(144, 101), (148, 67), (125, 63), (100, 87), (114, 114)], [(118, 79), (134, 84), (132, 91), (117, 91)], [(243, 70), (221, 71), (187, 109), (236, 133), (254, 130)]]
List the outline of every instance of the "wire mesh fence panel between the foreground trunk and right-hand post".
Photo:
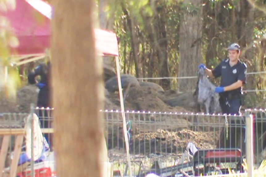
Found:
[[(126, 167), (119, 165), (127, 162), (120, 114), (105, 111), (106, 134), (109, 158), (125, 172)], [(204, 163), (215, 161), (220, 166), (228, 163), (236, 166), (242, 158), (242, 152), (237, 149), (244, 149), (242, 116), (127, 112), (126, 118), (131, 160), (141, 164), (132, 166), (134, 175), (145, 176), (153, 172), (161, 176), (183, 176), (185, 173), (200, 175), (205, 171), (207, 174), (211, 169), (215, 170), (214, 164), (207, 170), (201, 160)], [(201, 159), (202, 153), (217, 154), (217, 157)], [(234, 155), (223, 158), (219, 153)]]

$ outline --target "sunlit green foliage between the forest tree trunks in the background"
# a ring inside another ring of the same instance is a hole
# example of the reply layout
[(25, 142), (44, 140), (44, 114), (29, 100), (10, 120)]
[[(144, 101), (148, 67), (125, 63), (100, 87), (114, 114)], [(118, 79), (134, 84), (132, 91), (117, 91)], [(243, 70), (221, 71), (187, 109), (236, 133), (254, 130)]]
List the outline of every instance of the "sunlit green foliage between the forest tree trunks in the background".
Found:
[[(244, 49), (241, 60), (248, 64), (248, 72), (264, 71), (263, 60), (266, 58), (264, 54), (266, 51), (266, 44), (264, 44), (266, 15), (263, 9), (265, 9), (265, 5), (263, 0), (255, 2), (255, 6), (259, 10), (255, 10), (254, 14), (254, 45), (252, 48), (254, 52), (253, 58), (246, 58), (245, 48), (250, 44), (247, 43), (247, 36), (244, 35), (247, 35), (247, 29), (245, 28), (247, 28), (248, 8), (250, 6), (240, 3), (243, 3), (243, 1), (204, 0), (201, 6), (194, 6), (192, 1), (184, 3), (179, 0), (112, 0), (106, 11), (114, 14), (115, 17), (114, 30), (119, 37), (122, 72), (129, 74), (136, 73), (135, 58), (132, 55), (132, 36), (128, 26), (128, 20), (130, 20), (133, 25), (133, 32), (135, 32), (135, 41), (138, 44), (137, 52), (142, 76), (162, 77), (160, 75), (160, 58), (154, 57), (154, 52), (156, 52), (156, 45), (160, 45), (160, 42), (167, 40), (170, 77), (178, 77), (179, 45), (181, 42), (184, 42), (179, 40), (181, 17), (184, 13), (197, 15), (201, 9), (203, 10), (201, 48), (203, 61), (208, 62), (208, 66), (212, 68), (217, 66), (222, 59), (227, 58), (227, 46), (233, 42), (238, 42)], [(240, 8), (242, 8), (241, 11)], [(125, 14), (124, 10), (128, 14)], [(163, 22), (165, 22), (164, 25), (166, 26), (167, 33), (165, 39), (162, 38), (160, 33), (164, 27), (161, 26)], [(214, 28), (212, 28), (213, 24)], [(215, 30), (215, 33), (213, 36), (210, 36), (212, 29)], [(208, 48), (210, 43), (213, 43), (214, 46)], [(206, 53), (210, 52), (210, 50), (214, 51), (214, 55), (212, 58), (206, 58), (208, 57)], [(265, 74), (253, 76), (254, 79), (252, 78), (252, 80), (255, 83), (250, 89), (265, 89)], [(248, 77), (251, 77), (251, 75)], [(159, 83), (159, 80), (152, 80), (152, 82)], [(218, 85), (219, 79), (214, 80), (214, 82)], [(171, 79), (171, 83), (171, 88), (176, 89), (177, 79)], [(248, 93), (250, 95), (247, 101), (248, 107), (260, 106), (258, 100), (262, 103), (266, 95), (265, 93)]]

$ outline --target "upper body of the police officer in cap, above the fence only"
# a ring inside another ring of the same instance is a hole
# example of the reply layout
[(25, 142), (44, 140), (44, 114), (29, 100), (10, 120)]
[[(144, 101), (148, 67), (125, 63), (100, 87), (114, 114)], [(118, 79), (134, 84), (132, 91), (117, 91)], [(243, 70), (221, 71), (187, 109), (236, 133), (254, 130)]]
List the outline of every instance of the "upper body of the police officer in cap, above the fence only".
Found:
[(223, 60), (213, 70), (200, 64), (199, 68), (204, 68), (207, 75), (218, 78), (221, 76), (219, 87), (215, 92), (220, 95), (220, 106), (223, 114), (240, 114), (242, 105), (242, 86), (247, 80), (247, 65), (239, 61), (240, 46), (237, 43), (231, 44), (228, 48), (229, 58)]

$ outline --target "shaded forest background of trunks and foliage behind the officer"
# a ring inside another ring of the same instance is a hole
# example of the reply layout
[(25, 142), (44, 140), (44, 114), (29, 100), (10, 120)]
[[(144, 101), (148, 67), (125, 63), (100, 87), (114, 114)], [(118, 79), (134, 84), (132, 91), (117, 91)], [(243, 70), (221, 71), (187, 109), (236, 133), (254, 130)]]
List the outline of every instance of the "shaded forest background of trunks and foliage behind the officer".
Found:
[[(99, 0), (100, 27), (119, 38), (121, 72), (164, 90), (195, 89), (197, 66), (215, 67), (233, 42), (248, 73), (265, 71), (264, 0)], [(115, 67), (114, 60), (105, 59)], [(170, 78), (169, 78), (170, 77)], [(174, 78), (172, 78), (174, 77)], [(218, 82), (214, 80), (214, 82)], [(217, 83), (218, 84), (218, 83)], [(244, 90), (264, 90), (265, 73), (248, 74)], [(265, 91), (247, 92), (249, 107), (265, 107)]]

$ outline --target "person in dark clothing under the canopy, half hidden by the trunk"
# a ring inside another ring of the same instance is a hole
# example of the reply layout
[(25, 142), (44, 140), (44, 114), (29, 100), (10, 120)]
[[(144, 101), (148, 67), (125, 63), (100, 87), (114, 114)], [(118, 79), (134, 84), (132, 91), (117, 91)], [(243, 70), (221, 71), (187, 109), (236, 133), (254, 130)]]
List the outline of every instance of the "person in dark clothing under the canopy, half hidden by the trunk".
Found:
[[(52, 107), (50, 104), (50, 62), (47, 64), (42, 63), (37, 66), (33, 71), (28, 74), (29, 84), (36, 84), (39, 88), (37, 107), (47, 108)], [(35, 80), (36, 76), (40, 76), (40, 82), (37, 83)], [(39, 110), (38, 117), (40, 120), (41, 128), (52, 128), (52, 116), (51, 111)], [(45, 133), (44, 138), (47, 140), (50, 149), (52, 150), (52, 135)]]

